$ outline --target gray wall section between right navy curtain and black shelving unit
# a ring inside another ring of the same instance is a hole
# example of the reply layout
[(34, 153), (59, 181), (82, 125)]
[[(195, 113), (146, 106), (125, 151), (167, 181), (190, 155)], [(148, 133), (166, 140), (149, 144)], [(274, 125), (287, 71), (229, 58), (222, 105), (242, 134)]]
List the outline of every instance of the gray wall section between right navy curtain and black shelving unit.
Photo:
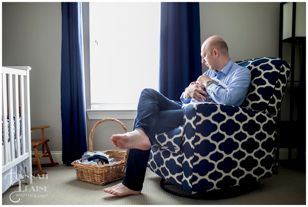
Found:
[(279, 2), (201, 2), (201, 42), (221, 36), (233, 61), (278, 57), (279, 7)]

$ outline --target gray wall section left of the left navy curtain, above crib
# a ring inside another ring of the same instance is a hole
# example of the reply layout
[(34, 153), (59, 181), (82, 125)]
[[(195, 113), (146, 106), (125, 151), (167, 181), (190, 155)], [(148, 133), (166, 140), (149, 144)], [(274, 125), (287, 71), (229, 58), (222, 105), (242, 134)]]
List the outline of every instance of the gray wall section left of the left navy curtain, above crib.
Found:
[(61, 20), (60, 2), (2, 2), (2, 65), (32, 68), (31, 126), (50, 126), (51, 151), (62, 151)]

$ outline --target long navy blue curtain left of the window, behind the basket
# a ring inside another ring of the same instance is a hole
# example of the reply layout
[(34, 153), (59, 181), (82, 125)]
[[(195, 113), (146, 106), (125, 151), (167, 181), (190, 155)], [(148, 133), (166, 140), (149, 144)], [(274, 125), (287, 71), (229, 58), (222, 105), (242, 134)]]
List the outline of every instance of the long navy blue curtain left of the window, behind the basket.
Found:
[(87, 151), (81, 2), (62, 2), (62, 160), (71, 164)]

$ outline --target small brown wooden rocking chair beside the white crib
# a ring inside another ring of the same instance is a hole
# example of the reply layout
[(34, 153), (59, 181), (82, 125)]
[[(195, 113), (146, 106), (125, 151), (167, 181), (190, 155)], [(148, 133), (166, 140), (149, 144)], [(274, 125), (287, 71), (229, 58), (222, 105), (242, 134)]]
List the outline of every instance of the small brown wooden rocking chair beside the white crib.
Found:
[[(59, 163), (54, 162), (54, 160), (52, 159), (49, 147), (47, 142), (49, 142), (49, 139), (45, 139), (44, 138), (44, 129), (49, 128), (49, 126), (38, 126), (38, 127), (31, 127), (31, 130), (37, 130), (37, 129), (41, 129), (42, 132), (42, 136), (41, 139), (31, 139), (31, 147), (33, 147), (34, 150), (34, 155), (32, 155), (32, 157), (35, 157), (36, 161), (32, 162), (32, 166), (33, 167), (37, 167), (39, 168), (39, 172), (33, 172), (32, 175), (43, 175), (43, 174), (47, 174), (46, 171), (42, 171), (42, 167), (51, 167), (51, 166), (55, 166), (58, 165)], [(32, 131), (31, 131), (32, 133)], [(38, 150), (37, 150), (37, 146), (42, 145), (42, 154), (39, 155)], [(46, 152), (45, 152), (45, 147), (46, 147)], [(50, 163), (48, 164), (41, 164), (40, 162), (40, 158), (41, 157), (49, 157), (50, 159)]]

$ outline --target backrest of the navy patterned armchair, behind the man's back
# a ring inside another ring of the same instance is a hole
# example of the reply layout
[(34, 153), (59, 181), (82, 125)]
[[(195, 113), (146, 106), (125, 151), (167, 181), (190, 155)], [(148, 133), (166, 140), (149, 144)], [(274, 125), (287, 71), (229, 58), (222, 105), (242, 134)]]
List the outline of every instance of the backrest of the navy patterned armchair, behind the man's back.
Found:
[(241, 107), (265, 112), (277, 117), (290, 74), (290, 64), (272, 57), (235, 62), (249, 68), (251, 82)]

